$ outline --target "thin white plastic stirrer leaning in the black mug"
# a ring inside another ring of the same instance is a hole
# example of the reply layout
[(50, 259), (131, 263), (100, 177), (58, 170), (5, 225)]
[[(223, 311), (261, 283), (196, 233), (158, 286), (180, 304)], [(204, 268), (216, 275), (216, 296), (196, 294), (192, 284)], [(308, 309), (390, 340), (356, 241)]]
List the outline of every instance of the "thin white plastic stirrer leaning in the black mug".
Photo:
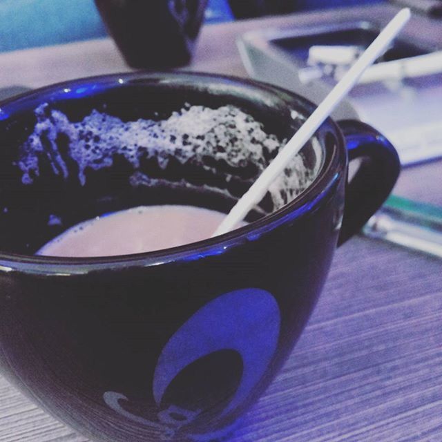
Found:
[(354, 63), (352, 68), (348, 70), (344, 77), (330, 91), (329, 95), (325, 97), (323, 102), (310, 115), (307, 121), (302, 124), (291, 140), (289, 140), (278, 155), (276, 155), (274, 160), (267, 166), (267, 169), (265, 169), (256, 182), (250, 186), (249, 190), (242, 195), (226, 218), (224, 218), (218, 229), (216, 229), (215, 233), (213, 233), (213, 236), (222, 235), (222, 233), (227, 233), (236, 227), (253, 206), (260, 202), (273, 180), (284, 171), (289, 161), (298, 154), (319, 126), (323, 124), (325, 119), (334, 111), (334, 108), (336, 108), (340, 101), (349, 93), (361, 75), (363, 75), (365, 69), (371, 66), (378, 57), (383, 55), (383, 52), (387, 50), (396, 35), (401, 32), (410, 17), (410, 9), (403, 8), (396, 14), (394, 19), (385, 26), (373, 43)]

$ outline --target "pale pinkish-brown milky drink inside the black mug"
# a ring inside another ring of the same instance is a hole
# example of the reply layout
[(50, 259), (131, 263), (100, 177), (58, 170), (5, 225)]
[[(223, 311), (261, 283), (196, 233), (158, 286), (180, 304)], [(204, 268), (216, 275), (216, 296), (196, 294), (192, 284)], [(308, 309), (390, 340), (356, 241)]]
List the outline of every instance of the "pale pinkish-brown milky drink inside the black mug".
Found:
[(81, 222), (37, 255), (116, 256), (167, 249), (210, 238), (225, 213), (194, 206), (141, 206)]

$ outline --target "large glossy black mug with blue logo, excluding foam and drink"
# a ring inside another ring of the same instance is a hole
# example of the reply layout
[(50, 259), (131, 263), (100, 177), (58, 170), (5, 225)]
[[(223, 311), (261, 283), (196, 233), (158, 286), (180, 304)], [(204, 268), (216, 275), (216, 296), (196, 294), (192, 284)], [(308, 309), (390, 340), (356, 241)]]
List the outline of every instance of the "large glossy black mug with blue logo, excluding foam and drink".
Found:
[[(184, 103), (236, 104), (288, 137), (313, 105), (250, 81), (135, 73), (50, 86), (0, 112), (0, 365), (23, 392), (97, 441), (210, 441), (256, 401), (302, 332), (338, 244), (387, 197), (399, 171), (376, 131), (328, 119), (307, 162), (309, 188), (282, 209), (224, 236), (115, 258), (32, 256), (81, 219), (155, 202), (233, 202), (187, 193), (133, 192), (116, 161), (84, 186), (48, 169), (21, 183), (19, 146), (34, 109), (79, 121), (94, 108), (123, 119), (168, 115)], [(345, 144), (345, 136), (349, 140)], [(367, 162), (347, 186), (349, 156)], [(75, 166), (75, 165), (74, 165)], [(75, 176), (75, 173), (73, 174)], [(161, 201), (160, 201), (161, 200)], [(347, 206), (345, 206), (347, 200)], [(57, 210), (66, 225), (48, 225)], [(351, 278), (351, 276), (349, 276)]]

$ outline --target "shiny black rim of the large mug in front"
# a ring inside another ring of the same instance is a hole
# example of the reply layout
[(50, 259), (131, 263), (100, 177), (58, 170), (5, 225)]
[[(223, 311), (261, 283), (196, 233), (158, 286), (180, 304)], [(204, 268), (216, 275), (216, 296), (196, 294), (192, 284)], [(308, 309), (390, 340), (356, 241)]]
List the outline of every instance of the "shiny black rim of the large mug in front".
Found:
[[(278, 97), (287, 103), (287, 106), (294, 105), (295, 102), (302, 103), (305, 108), (316, 108), (316, 105), (310, 102), (305, 97), (302, 97), (290, 90), (285, 90), (272, 84), (267, 84), (262, 81), (254, 81), (251, 79), (245, 79), (241, 77), (235, 77), (232, 75), (218, 75), (211, 73), (200, 73), (195, 71), (137, 71), (131, 73), (114, 73), (106, 75), (95, 75), (92, 77), (81, 77), (77, 79), (70, 79), (61, 81), (55, 84), (50, 84), (41, 88), (26, 91), (16, 95), (15, 97), (3, 100), (0, 105), (0, 111), (3, 112), (8, 106), (19, 106), (20, 102), (25, 100), (29, 101), (32, 97), (38, 99), (41, 94), (48, 94), (51, 92), (59, 93), (60, 88), (64, 91), (70, 90), (69, 86), (74, 84), (82, 84), (84, 82), (95, 81), (95, 83), (104, 86), (106, 90), (113, 87), (124, 86), (126, 81), (137, 79), (163, 79), (164, 81), (170, 80), (171, 77), (180, 82), (184, 82), (185, 79), (190, 79), (195, 83), (198, 79), (205, 79), (206, 81), (215, 81), (217, 83), (234, 82), (239, 87), (253, 88), (261, 93), (272, 93), (278, 95)], [(41, 104), (41, 102), (40, 102)], [(301, 111), (305, 116), (305, 109), (294, 108), (295, 111)], [(1, 117), (0, 119), (7, 119)], [(280, 207), (280, 209), (264, 215), (259, 220), (246, 224), (238, 229), (229, 231), (220, 236), (213, 238), (206, 238), (198, 242), (191, 242), (178, 247), (171, 247), (168, 249), (160, 249), (155, 251), (147, 251), (142, 253), (133, 253), (128, 255), (119, 256), (97, 256), (97, 257), (84, 257), (84, 258), (71, 258), (71, 257), (58, 257), (58, 256), (35, 256), (24, 255), (19, 253), (6, 253), (0, 250), (0, 272), (9, 271), (23, 271), (25, 273), (37, 273), (37, 274), (55, 274), (57, 276), (70, 276), (72, 274), (85, 274), (90, 271), (99, 271), (106, 269), (119, 269), (127, 267), (150, 267), (153, 265), (163, 265), (169, 262), (177, 261), (191, 261), (199, 260), (206, 256), (220, 255), (231, 249), (232, 247), (238, 247), (240, 244), (250, 240), (256, 240), (260, 236), (269, 231), (273, 231), (281, 224), (285, 224), (289, 220), (295, 220), (300, 218), (305, 213), (311, 211), (311, 209), (319, 204), (320, 200), (323, 200), (328, 194), (332, 184), (337, 180), (338, 174), (336, 169), (338, 167), (340, 159), (346, 161), (347, 151), (345, 149), (345, 139), (340, 128), (334, 122), (331, 117), (328, 117), (321, 125), (328, 125), (334, 129), (334, 135), (338, 142), (333, 144), (332, 152), (326, 152), (323, 142), (320, 142), (320, 146), (323, 150), (323, 164), (318, 171), (318, 174), (314, 178), (313, 182), (309, 184), (307, 189), (302, 191), (299, 195), (291, 200), (291, 202)], [(328, 161), (327, 161), (327, 156)]]

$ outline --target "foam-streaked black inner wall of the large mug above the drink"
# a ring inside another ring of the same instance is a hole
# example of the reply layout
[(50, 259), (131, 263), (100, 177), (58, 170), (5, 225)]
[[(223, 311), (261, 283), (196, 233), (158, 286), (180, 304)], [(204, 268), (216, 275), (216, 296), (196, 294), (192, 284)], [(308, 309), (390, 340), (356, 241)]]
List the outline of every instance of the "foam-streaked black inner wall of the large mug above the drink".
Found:
[[(136, 206), (227, 213), (306, 116), (274, 93), (226, 81), (114, 83), (11, 105), (0, 122), (1, 251), (34, 254), (79, 222)], [(323, 157), (312, 138), (247, 221), (300, 195)]]

